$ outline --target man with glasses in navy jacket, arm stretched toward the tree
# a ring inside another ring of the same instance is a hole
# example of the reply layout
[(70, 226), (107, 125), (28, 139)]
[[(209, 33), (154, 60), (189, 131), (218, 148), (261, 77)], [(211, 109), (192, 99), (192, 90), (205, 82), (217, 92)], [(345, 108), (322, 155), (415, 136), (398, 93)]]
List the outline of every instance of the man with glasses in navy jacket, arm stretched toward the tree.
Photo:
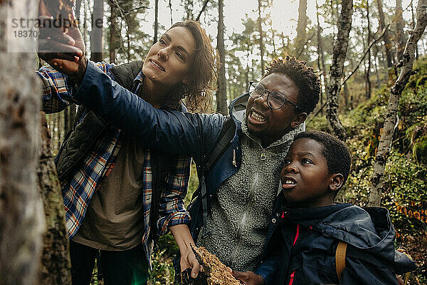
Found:
[[(275, 222), (270, 216), (284, 157), (320, 98), (320, 80), (313, 69), (290, 56), (273, 60), (262, 80), (233, 100), (229, 116), (158, 110), (117, 86), (92, 63), (82, 74), (80, 87), (72, 90), (73, 100), (151, 147), (194, 158), (201, 183), (189, 207), (192, 222), (190, 230), (182, 225), (175, 234), (180, 249), (188, 249), (181, 252), (186, 257), (181, 270), (193, 267), (191, 276), (198, 274), (190, 247), (194, 237), (197, 246), (227, 266), (249, 271), (236, 273), (246, 284), (268, 283), (273, 272), (259, 266), (260, 257), (268, 224)], [(229, 125), (231, 139), (205, 169)]]

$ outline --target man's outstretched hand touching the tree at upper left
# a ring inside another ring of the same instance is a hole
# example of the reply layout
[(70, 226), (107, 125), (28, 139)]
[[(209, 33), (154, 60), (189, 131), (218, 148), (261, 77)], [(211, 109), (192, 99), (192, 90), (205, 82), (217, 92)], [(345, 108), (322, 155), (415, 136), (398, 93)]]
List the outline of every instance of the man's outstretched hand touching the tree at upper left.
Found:
[(38, 15), (41, 23), (38, 56), (56, 70), (73, 78), (76, 83), (80, 83), (88, 61), (85, 58), (85, 43), (74, 16), (71, 16), (70, 21), (62, 19), (54, 25), (43, 0), (38, 7)]

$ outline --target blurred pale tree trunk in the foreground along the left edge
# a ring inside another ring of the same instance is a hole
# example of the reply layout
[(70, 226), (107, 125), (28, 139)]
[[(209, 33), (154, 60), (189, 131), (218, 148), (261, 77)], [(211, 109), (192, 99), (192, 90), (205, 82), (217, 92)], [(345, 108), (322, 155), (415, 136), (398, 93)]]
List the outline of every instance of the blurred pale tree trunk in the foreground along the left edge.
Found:
[[(36, 185), (41, 89), (31, 38), (13, 35), (7, 19), (36, 19), (38, 1), (0, 1), (0, 283), (37, 284), (43, 203)], [(7, 14), (6, 14), (7, 13)], [(8, 15), (8, 16), (6, 16)], [(9, 25), (9, 30), (6, 30)], [(15, 30), (16, 31), (16, 30)], [(9, 33), (9, 36), (6, 36)], [(9, 47), (9, 50), (8, 50)]]

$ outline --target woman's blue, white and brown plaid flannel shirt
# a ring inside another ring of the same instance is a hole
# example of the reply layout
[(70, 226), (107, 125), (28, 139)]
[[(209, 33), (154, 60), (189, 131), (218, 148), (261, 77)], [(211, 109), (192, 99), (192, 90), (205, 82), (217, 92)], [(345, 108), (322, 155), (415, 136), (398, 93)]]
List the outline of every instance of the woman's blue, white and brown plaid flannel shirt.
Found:
[[(97, 66), (110, 75), (109, 69), (112, 64), (97, 63)], [(43, 88), (43, 108), (46, 113), (54, 113), (63, 110), (73, 102), (70, 89), (67, 86), (67, 78), (63, 73), (51, 67), (43, 67), (36, 71), (40, 76)], [(139, 72), (135, 81), (143, 78), (142, 71)], [(114, 79), (114, 78), (113, 78)], [(82, 116), (83, 118), (83, 116)], [(81, 120), (81, 118), (80, 118)], [(88, 157), (85, 157), (83, 165), (74, 170), (69, 182), (61, 185), (65, 205), (65, 222), (69, 238), (73, 238), (85, 217), (90, 199), (93, 197), (97, 187), (110, 174), (115, 165), (115, 158), (122, 142), (120, 141), (119, 129), (112, 129), (102, 138), (98, 139)], [(150, 254), (153, 241), (149, 241), (149, 212), (152, 199), (152, 171), (150, 152), (144, 154), (144, 236), (142, 244), (147, 254), (147, 260), (151, 264)], [(166, 190), (160, 197), (160, 215), (157, 222), (157, 233), (167, 233), (168, 227), (176, 224), (189, 224), (189, 213), (184, 208), (184, 198), (188, 188), (191, 158), (179, 156), (171, 162), (170, 170), (165, 177)]]

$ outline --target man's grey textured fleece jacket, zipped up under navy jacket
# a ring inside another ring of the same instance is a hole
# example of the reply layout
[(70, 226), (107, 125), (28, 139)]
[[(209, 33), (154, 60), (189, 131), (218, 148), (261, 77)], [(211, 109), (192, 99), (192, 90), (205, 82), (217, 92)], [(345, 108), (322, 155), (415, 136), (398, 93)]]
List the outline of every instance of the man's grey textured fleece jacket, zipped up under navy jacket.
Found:
[(231, 269), (253, 271), (260, 264), (283, 160), (294, 136), (304, 128), (300, 125), (263, 148), (260, 140), (248, 133), (243, 119), (242, 165), (218, 187), (206, 221), (211, 234), (197, 240), (198, 246), (216, 254)]

